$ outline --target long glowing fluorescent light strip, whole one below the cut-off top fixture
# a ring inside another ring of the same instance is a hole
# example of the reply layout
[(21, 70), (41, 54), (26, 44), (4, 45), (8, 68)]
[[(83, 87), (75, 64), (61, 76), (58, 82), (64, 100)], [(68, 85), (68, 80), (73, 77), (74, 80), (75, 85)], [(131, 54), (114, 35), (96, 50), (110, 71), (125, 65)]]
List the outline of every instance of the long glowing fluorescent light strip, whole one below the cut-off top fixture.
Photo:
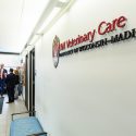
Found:
[(51, 13), (47, 17), (47, 20), (45, 20), (44, 24), (41, 25), (41, 27), (37, 32), (38, 34), (41, 34), (41, 32), (49, 25), (49, 23), (54, 18), (54, 16), (60, 12), (60, 10), (61, 10), (60, 8), (57, 8), (57, 7), (53, 8)]

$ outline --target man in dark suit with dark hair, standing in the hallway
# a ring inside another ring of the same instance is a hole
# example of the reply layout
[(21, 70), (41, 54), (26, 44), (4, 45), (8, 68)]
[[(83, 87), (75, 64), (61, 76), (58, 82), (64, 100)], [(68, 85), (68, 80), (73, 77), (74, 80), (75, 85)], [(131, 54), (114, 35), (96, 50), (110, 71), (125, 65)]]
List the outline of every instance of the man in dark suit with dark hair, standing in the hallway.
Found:
[(15, 75), (13, 74), (13, 69), (10, 69), (10, 74), (7, 75), (5, 84), (9, 97), (9, 101), (7, 103), (14, 102)]

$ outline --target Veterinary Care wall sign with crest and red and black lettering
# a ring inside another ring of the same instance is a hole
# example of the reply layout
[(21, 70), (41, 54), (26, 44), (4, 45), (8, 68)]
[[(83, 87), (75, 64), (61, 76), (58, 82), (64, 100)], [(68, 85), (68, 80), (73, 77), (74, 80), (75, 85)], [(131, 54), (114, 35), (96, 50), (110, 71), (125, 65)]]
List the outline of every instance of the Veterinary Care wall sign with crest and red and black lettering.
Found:
[(136, 38), (136, 28), (133, 28), (131, 30), (125, 30), (111, 36), (110, 38), (108, 37), (94, 41), (96, 35), (106, 35), (108, 33), (114, 32), (115, 29), (123, 28), (126, 25), (126, 21), (127, 18), (125, 16), (114, 18), (112, 22), (103, 21), (98, 25), (97, 29), (92, 29), (84, 35), (78, 35), (76, 38), (67, 39), (63, 42), (60, 42), (59, 37), (55, 36), (52, 47), (54, 67), (58, 66), (60, 57), (65, 57), (81, 51), (108, 46), (109, 44), (115, 44), (131, 38)]

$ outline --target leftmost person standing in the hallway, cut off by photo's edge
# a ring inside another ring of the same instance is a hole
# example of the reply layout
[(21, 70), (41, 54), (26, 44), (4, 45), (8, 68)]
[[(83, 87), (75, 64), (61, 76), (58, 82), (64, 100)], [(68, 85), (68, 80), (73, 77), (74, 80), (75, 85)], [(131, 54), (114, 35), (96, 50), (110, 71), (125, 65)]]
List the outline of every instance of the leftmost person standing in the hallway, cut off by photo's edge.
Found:
[(3, 97), (3, 91), (5, 89), (5, 78), (8, 71), (4, 69), (4, 64), (0, 64), (0, 95)]

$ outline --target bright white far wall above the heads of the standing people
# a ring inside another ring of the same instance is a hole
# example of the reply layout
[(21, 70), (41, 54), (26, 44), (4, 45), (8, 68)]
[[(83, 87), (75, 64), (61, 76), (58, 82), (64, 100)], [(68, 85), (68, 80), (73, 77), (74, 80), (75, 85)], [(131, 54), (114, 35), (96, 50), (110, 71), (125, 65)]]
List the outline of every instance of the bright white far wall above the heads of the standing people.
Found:
[(21, 64), (20, 55), (0, 53), (0, 63), (3, 63), (7, 70), (9, 70), (10, 67), (16, 69), (16, 66)]

